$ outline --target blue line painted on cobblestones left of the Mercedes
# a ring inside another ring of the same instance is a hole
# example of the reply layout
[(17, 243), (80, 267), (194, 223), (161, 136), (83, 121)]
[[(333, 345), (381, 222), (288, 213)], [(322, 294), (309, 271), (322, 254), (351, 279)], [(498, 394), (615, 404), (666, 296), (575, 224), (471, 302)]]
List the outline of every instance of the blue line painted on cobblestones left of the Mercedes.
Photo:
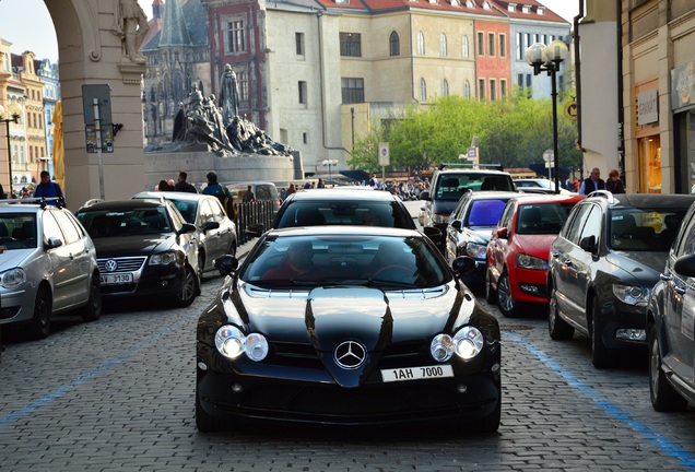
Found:
[(167, 328), (164, 328), (164, 329), (162, 329), (160, 331), (156, 331), (156, 332), (150, 334), (149, 337), (144, 338), (138, 344), (133, 345), (132, 349), (120, 353), (118, 355), (118, 357), (116, 357), (114, 359), (105, 361), (99, 366), (94, 368), (93, 370), (90, 370), (89, 373), (82, 374), (80, 377), (78, 377), (75, 380), (73, 380), (71, 382), (63, 384), (62, 386), (58, 387), (57, 389), (52, 390), (51, 392), (49, 392), (49, 393), (43, 396), (42, 398), (28, 403), (24, 408), (22, 408), (20, 410), (16, 410), (16, 411), (13, 411), (12, 413), (7, 414), (4, 416), (0, 416), (0, 428), (3, 428), (5, 426), (10, 426), (12, 423), (16, 422), (17, 420), (20, 420), (20, 418), (22, 418), (24, 416), (27, 416), (27, 415), (32, 414), (33, 412), (35, 412), (36, 410), (38, 410), (39, 408), (45, 406), (48, 403), (52, 402), (54, 400), (57, 400), (57, 399), (63, 397), (64, 394), (67, 394), (69, 391), (71, 391), (75, 387), (79, 387), (82, 384), (86, 382), (87, 380), (91, 380), (94, 377), (97, 377), (97, 376), (104, 374), (105, 371), (111, 369), (111, 367), (119, 365), (121, 362), (126, 361), (127, 358), (129, 358), (129, 357), (138, 354), (140, 351), (151, 346), (152, 344), (154, 344), (156, 341), (158, 341), (164, 335), (168, 334), (169, 332), (172, 332), (175, 329), (179, 328), (180, 326), (185, 324), (190, 319), (197, 318), (198, 316), (199, 316), (198, 314), (195, 314), (195, 315), (189, 315), (189, 316), (187, 316), (185, 318), (179, 319), (175, 323), (169, 324)]

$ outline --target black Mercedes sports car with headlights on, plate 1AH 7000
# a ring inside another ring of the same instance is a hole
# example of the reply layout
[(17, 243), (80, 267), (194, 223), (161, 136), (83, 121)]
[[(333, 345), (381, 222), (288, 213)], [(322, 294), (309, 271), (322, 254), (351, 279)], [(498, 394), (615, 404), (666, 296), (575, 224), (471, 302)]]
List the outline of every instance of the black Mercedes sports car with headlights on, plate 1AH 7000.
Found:
[(272, 229), (198, 321), (196, 424), (369, 426), (500, 417), (497, 320), (411, 229)]

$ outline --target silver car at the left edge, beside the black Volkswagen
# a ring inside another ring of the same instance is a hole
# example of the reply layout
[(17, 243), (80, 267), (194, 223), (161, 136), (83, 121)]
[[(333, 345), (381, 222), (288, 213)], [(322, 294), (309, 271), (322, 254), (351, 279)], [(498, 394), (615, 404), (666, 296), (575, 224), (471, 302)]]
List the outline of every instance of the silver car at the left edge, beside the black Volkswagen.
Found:
[(56, 315), (99, 318), (96, 250), (69, 210), (42, 199), (0, 203), (0, 324), (24, 326), (33, 339), (50, 333)]

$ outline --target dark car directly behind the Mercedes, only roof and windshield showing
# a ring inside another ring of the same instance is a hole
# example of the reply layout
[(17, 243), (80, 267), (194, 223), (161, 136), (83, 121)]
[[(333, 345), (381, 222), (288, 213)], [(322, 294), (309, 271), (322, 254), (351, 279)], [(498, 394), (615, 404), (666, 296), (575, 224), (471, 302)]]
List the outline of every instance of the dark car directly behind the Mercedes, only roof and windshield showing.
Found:
[[(363, 187), (302, 190), (280, 206), (272, 228), (315, 225), (369, 225), (415, 229), (412, 215), (398, 197)], [(260, 236), (262, 225), (247, 233)]]

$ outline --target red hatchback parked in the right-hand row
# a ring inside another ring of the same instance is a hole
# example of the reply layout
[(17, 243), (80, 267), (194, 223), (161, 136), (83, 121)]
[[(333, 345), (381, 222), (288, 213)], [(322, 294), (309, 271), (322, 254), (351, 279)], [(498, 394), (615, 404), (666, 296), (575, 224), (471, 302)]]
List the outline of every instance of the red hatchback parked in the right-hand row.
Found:
[(580, 194), (515, 197), (499, 217), (487, 245), (485, 295), (506, 317), (520, 303), (547, 304), (547, 256)]

